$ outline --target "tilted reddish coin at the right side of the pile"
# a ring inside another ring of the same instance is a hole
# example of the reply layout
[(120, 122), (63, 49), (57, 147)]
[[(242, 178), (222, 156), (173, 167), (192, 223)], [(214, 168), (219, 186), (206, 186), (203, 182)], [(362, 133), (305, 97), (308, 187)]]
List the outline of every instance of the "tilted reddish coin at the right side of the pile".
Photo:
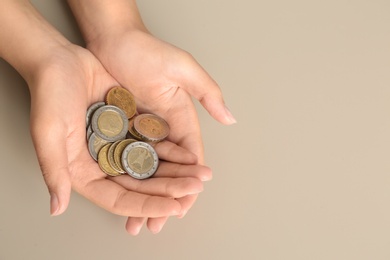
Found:
[(134, 130), (146, 141), (159, 142), (169, 135), (168, 123), (154, 114), (141, 114), (134, 119)]

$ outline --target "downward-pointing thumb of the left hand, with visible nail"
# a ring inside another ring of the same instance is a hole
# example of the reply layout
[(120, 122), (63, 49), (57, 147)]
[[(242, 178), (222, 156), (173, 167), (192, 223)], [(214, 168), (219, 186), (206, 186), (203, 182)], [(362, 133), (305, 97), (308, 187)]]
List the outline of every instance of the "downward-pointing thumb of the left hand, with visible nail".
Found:
[(66, 210), (71, 193), (64, 129), (56, 123), (35, 124), (31, 127), (38, 162), (50, 194), (52, 216)]

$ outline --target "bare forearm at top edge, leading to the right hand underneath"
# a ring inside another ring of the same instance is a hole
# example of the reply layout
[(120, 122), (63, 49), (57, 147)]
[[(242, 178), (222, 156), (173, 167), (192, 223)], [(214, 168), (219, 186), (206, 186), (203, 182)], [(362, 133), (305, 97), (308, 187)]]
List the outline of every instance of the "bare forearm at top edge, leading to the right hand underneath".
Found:
[(135, 0), (67, 0), (87, 45), (125, 30), (147, 31)]

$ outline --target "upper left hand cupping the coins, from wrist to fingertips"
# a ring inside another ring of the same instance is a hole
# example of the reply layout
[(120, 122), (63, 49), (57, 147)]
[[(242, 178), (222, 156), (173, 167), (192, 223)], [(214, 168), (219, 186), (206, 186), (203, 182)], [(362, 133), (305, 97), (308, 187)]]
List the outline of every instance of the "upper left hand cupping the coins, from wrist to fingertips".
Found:
[[(67, 45), (29, 77), (31, 133), (51, 194), (51, 214), (65, 211), (71, 188), (106, 210), (123, 216), (162, 217), (182, 213), (180, 198), (203, 189), (207, 167), (190, 165), (196, 156), (171, 143), (156, 146), (162, 162), (154, 178), (108, 178), (91, 158), (86, 143), (88, 106), (104, 100), (118, 83), (87, 50)], [(171, 162), (167, 162), (171, 161)], [(178, 178), (176, 178), (178, 177)]]

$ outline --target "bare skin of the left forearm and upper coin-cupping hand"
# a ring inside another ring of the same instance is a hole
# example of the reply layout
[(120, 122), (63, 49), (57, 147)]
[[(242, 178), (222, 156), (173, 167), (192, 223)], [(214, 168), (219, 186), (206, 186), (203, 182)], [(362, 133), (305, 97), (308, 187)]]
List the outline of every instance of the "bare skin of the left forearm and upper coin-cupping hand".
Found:
[(133, 219), (184, 213), (181, 198), (201, 192), (211, 170), (196, 164), (197, 156), (174, 139), (156, 145), (164, 161), (147, 181), (109, 178), (90, 157), (86, 110), (119, 84), (90, 51), (67, 41), (29, 1), (2, 2), (0, 38), (7, 39), (0, 41), (0, 56), (24, 77), (31, 93), (31, 135), (52, 215), (66, 210), (71, 189), (114, 214), (132, 216), (130, 226)]

